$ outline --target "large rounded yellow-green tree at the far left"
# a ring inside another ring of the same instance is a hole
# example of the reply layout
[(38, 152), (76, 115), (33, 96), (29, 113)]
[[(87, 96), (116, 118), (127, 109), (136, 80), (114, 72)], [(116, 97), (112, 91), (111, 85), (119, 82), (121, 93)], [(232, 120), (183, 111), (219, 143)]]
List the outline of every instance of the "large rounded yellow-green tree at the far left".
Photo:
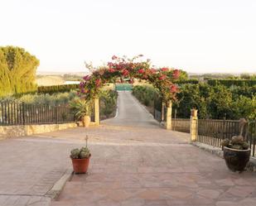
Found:
[(39, 60), (20, 47), (0, 47), (0, 96), (36, 90)]

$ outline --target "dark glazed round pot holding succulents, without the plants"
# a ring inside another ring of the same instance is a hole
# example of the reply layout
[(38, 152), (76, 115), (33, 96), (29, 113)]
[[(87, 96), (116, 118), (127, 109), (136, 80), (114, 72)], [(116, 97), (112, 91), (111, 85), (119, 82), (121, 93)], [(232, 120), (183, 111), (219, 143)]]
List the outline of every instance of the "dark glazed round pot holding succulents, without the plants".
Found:
[(245, 166), (249, 161), (250, 149), (237, 150), (224, 146), (224, 159), (229, 170), (244, 171)]

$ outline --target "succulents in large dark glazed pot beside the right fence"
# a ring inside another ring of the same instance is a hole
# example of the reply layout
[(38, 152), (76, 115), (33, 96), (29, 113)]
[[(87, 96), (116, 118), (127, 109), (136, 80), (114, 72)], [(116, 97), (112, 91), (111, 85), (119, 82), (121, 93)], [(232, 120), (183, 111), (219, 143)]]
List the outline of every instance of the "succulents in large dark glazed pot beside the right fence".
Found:
[(234, 136), (231, 140), (225, 139), (221, 141), (224, 150), (225, 163), (229, 170), (244, 171), (249, 161), (250, 149), (247, 141), (243, 136)]

